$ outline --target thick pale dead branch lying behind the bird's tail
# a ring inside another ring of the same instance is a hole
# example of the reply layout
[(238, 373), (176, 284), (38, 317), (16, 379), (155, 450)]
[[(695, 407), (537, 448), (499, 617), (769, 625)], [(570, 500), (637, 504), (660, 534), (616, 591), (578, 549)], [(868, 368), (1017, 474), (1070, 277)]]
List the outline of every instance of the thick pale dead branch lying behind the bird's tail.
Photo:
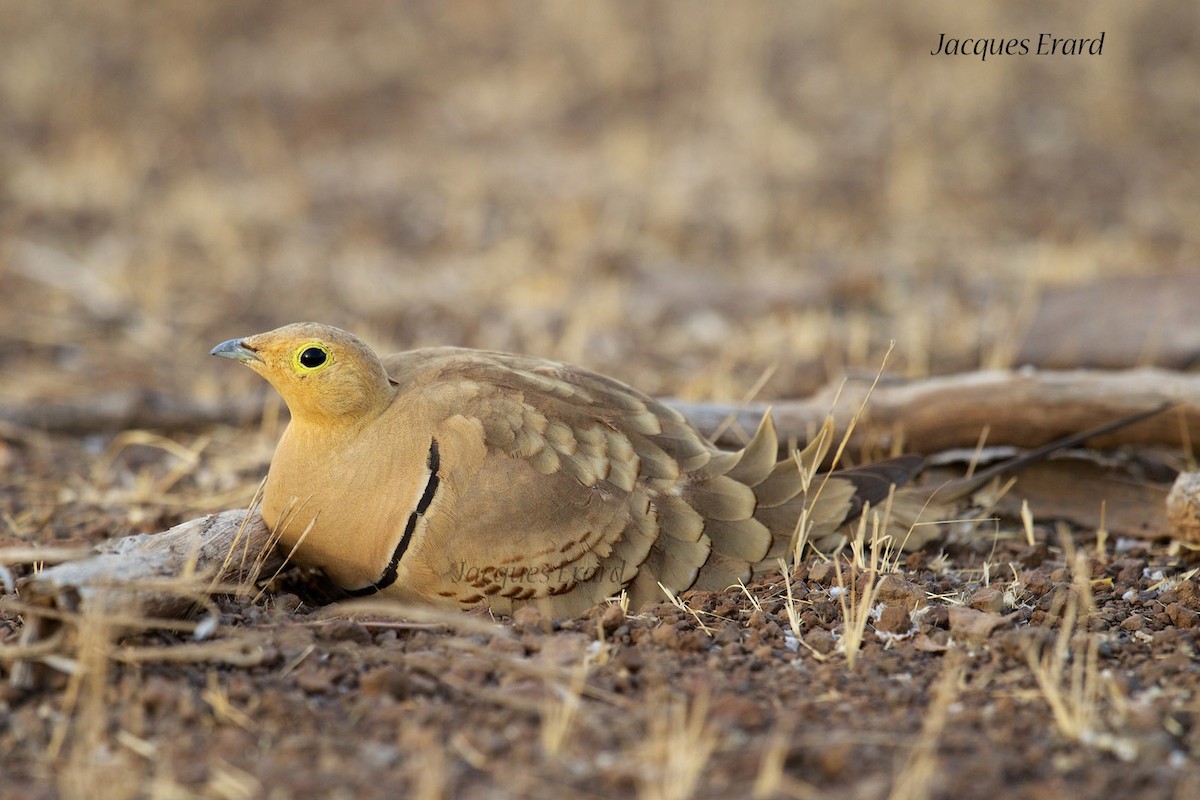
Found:
[[(834, 407), (836, 387), (809, 399), (772, 405), (784, 439), (806, 440), (833, 413), (845, 431), (870, 389), (870, 380), (846, 383)], [(988, 429), (989, 445), (1037, 447), (1052, 439), (1148, 410), (1164, 402), (1180, 405), (1159, 416), (1102, 437), (1102, 447), (1165, 445), (1190, 447), (1200, 438), (1200, 375), (1170, 369), (1123, 372), (1075, 369), (989, 371), (908, 383), (881, 383), (850, 441), (851, 452), (872, 445), (887, 451), (894, 443), (904, 452), (935, 453), (973, 447)], [(745, 443), (766, 410), (764, 404), (737, 408), (668, 401), (702, 432), (721, 428), (734, 415), (736, 425), (718, 438), (728, 447)]]

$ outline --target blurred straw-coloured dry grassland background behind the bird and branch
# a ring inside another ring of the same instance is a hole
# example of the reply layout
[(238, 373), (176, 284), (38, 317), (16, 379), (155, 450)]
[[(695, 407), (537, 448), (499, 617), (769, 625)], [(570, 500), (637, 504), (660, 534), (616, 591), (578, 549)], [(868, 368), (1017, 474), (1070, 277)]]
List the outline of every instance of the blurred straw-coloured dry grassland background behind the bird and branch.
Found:
[(1057, 6), (6, 0), (0, 403), (247, 393), (209, 348), (296, 320), (694, 399), (1007, 366), (1200, 264), (1200, 11)]

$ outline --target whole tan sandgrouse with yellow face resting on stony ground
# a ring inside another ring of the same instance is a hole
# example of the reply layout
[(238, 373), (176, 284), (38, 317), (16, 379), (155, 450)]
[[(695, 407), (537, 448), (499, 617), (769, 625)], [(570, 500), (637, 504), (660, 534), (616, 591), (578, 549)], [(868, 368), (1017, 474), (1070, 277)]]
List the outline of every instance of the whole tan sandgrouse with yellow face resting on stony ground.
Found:
[[(552, 361), (458, 348), (378, 359), (316, 324), (226, 342), (292, 413), (263, 517), (352, 594), (580, 613), (619, 594), (722, 590), (788, 554), (804, 504), (770, 416), (724, 452), (673, 409)], [(824, 483), (814, 534), (920, 464)]]

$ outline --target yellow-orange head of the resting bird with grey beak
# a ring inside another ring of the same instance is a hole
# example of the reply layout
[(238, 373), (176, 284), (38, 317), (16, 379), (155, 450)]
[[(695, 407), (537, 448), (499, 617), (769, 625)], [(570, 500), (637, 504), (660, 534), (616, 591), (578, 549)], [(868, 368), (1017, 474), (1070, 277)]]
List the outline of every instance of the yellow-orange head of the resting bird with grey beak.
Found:
[(265, 378), (293, 419), (353, 425), (379, 414), (394, 389), (379, 356), (359, 337), (317, 323), (222, 342), (211, 355), (241, 361)]

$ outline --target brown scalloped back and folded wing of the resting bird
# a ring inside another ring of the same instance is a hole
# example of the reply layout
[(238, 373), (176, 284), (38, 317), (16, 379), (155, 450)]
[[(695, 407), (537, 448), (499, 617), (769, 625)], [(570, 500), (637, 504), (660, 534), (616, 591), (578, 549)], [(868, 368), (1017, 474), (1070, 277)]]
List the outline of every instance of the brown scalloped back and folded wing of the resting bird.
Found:
[[(804, 486), (778, 461), (769, 417), (724, 452), (678, 411), (578, 367), (458, 348), (384, 365), (397, 404), (442, 409), (430, 438), (445, 487), (394, 594), (562, 616), (622, 590), (634, 608), (664, 588), (722, 590), (790, 553)], [(851, 481), (822, 493), (822, 529), (862, 506)]]

